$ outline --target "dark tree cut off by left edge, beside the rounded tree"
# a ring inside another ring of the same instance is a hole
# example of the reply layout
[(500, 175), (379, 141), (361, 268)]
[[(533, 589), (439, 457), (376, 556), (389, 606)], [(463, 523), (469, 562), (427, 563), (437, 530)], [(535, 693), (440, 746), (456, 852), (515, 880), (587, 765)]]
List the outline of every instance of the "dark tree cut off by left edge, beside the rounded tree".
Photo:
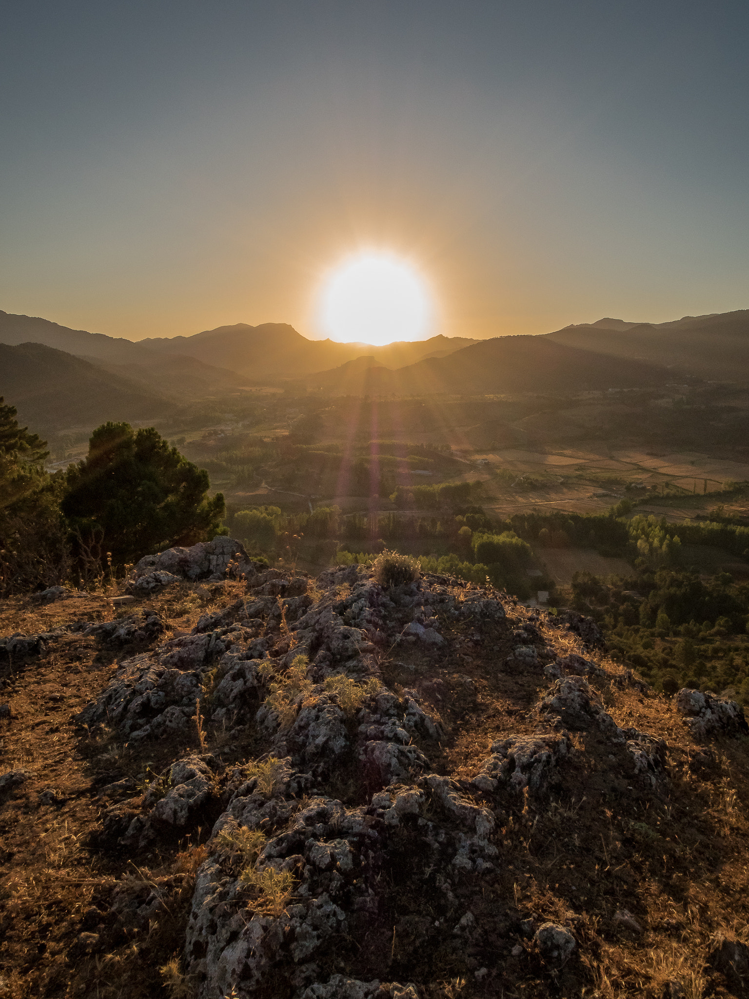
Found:
[(59, 498), (62, 476), (44, 470), (46, 442), (20, 427), (0, 397), (0, 593), (61, 582), (69, 558)]

